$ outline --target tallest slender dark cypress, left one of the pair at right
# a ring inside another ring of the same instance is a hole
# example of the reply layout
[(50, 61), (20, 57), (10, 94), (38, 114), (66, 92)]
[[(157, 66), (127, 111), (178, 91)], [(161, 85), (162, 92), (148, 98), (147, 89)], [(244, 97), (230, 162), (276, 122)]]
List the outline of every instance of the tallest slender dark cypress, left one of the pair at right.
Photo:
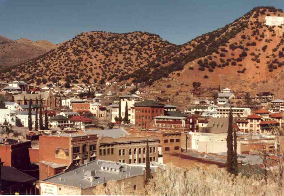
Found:
[(232, 108), (230, 107), (229, 113), (229, 126), (227, 135), (227, 171), (232, 173), (232, 158), (233, 158), (233, 115)]

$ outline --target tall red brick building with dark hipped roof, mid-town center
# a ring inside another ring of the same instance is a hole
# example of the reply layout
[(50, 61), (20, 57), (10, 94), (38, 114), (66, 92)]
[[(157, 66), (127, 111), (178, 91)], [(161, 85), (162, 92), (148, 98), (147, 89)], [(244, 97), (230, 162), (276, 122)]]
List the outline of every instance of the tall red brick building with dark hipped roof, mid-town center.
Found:
[(164, 107), (165, 104), (154, 100), (135, 103), (135, 125), (142, 128), (151, 127), (151, 121), (154, 121), (156, 116), (165, 115)]

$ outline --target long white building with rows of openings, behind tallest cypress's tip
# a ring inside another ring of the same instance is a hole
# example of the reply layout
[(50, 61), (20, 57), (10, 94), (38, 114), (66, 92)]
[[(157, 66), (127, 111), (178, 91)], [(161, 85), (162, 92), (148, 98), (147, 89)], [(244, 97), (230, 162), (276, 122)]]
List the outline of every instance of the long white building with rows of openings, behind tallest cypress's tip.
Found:
[[(229, 112), (230, 112), (230, 107), (218, 107), (216, 108), (217, 110), (217, 117), (228, 117)], [(235, 116), (243, 116), (247, 117), (248, 115), (251, 114), (251, 109), (250, 108), (235, 108), (232, 107), (232, 114), (233, 117)]]

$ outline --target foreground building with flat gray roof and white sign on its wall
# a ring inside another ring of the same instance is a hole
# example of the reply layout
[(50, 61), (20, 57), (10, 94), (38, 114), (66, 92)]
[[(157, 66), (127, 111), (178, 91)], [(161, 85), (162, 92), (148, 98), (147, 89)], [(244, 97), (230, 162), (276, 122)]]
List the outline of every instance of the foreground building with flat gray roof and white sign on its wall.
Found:
[[(150, 166), (151, 174), (157, 166)], [(58, 175), (38, 181), (40, 195), (94, 195), (96, 186), (107, 185), (109, 180), (127, 184), (133, 190), (145, 186), (145, 165), (127, 165), (106, 160), (95, 160)]]

